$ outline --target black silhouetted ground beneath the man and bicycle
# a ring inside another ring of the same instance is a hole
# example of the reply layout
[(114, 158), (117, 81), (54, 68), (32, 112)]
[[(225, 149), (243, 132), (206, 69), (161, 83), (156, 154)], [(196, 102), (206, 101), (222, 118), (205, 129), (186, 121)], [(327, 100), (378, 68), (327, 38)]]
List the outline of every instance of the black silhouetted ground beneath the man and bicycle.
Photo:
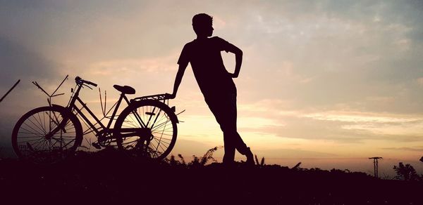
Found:
[[(59, 164), (0, 160), (1, 201), (137, 204), (422, 204), (423, 183), (278, 165), (231, 167), (77, 152)], [(223, 202), (224, 201), (224, 202)], [(37, 202), (37, 203), (36, 203)]]

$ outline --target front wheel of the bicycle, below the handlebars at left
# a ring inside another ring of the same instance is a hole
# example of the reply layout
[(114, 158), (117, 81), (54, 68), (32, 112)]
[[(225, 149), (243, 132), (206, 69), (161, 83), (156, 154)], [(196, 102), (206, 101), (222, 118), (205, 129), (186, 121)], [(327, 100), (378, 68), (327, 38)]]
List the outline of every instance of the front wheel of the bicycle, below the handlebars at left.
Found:
[(20, 159), (38, 164), (61, 161), (82, 143), (82, 126), (64, 107), (38, 107), (13, 128), (12, 146)]

